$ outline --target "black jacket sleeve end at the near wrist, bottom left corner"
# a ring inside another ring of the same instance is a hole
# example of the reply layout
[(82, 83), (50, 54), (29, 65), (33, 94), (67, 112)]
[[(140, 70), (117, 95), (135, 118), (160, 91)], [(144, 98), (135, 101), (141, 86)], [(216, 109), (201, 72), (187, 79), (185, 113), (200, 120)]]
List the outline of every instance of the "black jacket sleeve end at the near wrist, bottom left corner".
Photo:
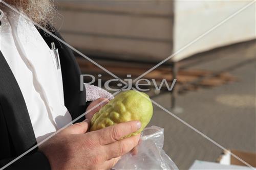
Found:
[[(7, 159), (0, 160), (0, 166), (4, 167), (13, 159), (15, 158), (7, 158)], [(37, 151), (37, 152), (34, 152), (33, 154), (26, 155), (18, 159), (11, 165), (7, 166), (5, 169), (6, 170), (16, 170), (16, 169), (50, 170), (51, 167), (47, 157), (43, 153)]]

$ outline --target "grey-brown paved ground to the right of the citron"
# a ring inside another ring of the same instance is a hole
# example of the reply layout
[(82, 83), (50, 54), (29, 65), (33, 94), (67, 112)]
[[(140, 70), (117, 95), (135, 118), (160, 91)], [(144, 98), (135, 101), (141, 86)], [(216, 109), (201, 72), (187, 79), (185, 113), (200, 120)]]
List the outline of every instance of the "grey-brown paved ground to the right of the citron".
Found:
[[(221, 70), (239, 64), (229, 72), (240, 81), (190, 91), (177, 99), (178, 107), (183, 109), (177, 115), (227, 149), (256, 152), (255, 50), (255, 43), (243, 43), (205, 54), (223, 57), (193, 68)], [(169, 94), (154, 100), (169, 109)], [(164, 150), (180, 169), (188, 169), (196, 159), (216, 161), (222, 149), (157, 106), (154, 109), (150, 125), (164, 128)]]

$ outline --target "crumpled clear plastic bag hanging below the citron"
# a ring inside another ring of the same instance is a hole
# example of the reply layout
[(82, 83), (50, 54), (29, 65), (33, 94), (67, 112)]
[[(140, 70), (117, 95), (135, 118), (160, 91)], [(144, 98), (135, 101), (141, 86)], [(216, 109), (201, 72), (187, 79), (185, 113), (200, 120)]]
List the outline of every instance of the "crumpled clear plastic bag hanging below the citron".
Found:
[(145, 128), (137, 146), (137, 154), (123, 155), (112, 169), (178, 169), (163, 151), (163, 129), (157, 126)]

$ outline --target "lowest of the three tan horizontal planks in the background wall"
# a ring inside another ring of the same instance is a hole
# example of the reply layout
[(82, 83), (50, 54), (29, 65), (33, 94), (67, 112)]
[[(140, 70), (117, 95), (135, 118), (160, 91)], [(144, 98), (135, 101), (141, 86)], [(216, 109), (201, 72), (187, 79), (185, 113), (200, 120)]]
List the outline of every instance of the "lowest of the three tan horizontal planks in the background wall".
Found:
[(166, 56), (172, 54), (172, 45), (162, 42), (131, 40), (131, 39), (116, 39), (102, 38), (91, 35), (72, 35), (62, 34), (65, 40), (79, 50), (88, 51), (85, 55), (97, 53), (101, 56), (113, 56), (134, 60), (162, 60)]

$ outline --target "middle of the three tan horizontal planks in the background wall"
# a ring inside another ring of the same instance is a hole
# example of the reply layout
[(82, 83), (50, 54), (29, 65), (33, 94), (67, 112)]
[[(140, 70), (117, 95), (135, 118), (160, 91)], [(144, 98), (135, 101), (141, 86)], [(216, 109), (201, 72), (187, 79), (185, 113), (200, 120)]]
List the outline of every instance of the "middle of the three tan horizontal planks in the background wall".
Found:
[(92, 34), (119, 39), (144, 38), (166, 43), (173, 39), (172, 18), (132, 17), (61, 10), (59, 13), (65, 18), (60, 29), (62, 33)]

